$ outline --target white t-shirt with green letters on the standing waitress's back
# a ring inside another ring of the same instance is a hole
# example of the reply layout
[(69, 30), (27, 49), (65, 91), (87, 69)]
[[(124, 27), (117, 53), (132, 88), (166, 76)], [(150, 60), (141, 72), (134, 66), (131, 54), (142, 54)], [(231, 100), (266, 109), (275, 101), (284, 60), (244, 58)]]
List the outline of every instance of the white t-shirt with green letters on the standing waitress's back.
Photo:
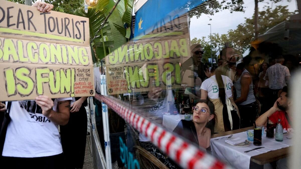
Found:
[[(225, 95), (226, 99), (232, 97), (232, 86), (233, 82), (228, 76), (222, 75), (223, 83), (225, 86)], [(217, 84), (215, 75), (207, 78), (203, 81), (201, 85), (201, 89), (207, 91), (207, 95), (210, 99), (218, 99), (219, 98), (219, 85)]]

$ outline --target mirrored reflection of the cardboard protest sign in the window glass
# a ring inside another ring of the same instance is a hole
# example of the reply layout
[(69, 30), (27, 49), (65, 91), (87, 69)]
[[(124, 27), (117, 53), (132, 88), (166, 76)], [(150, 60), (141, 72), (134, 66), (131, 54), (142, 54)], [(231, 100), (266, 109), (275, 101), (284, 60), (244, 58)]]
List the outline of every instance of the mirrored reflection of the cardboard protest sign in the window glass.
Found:
[[(183, 71), (181, 63), (191, 56), (187, 21), (174, 27), (172, 31), (146, 35), (146, 38), (117, 48), (105, 60), (108, 94), (123, 94), (149, 91), (150, 88), (166, 89), (192, 86), (192, 71)], [(182, 25), (181, 25), (182, 24)], [(158, 28), (159, 30), (162, 28)], [(156, 31), (156, 30), (155, 30)], [(170, 81), (167, 74), (171, 73)], [(185, 78), (186, 77), (186, 78)]]

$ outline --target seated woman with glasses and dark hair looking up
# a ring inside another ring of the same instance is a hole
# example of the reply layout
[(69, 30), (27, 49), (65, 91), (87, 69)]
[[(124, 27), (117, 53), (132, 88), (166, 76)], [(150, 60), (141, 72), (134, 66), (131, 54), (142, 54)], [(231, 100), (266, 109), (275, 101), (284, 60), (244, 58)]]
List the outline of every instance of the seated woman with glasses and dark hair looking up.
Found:
[(193, 108), (193, 120), (181, 120), (173, 132), (210, 151), (210, 138), (214, 134), (215, 123), (213, 103), (200, 100)]

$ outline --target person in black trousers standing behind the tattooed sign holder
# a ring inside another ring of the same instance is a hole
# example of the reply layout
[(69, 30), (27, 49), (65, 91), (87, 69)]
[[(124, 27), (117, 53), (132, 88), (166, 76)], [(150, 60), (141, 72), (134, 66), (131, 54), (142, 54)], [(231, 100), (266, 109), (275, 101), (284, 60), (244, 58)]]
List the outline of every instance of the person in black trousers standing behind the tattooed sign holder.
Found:
[(87, 97), (73, 98), (70, 118), (66, 125), (60, 125), (61, 143), (65, 157), (65, 168), (82, 168), (87, 138)]

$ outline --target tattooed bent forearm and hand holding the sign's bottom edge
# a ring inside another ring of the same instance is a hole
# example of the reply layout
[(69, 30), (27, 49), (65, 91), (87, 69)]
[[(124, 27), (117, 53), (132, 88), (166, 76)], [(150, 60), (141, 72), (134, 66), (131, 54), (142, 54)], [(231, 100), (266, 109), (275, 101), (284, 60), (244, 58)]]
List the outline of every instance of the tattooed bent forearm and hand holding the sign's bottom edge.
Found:
[(66, 125), (70, 117), (70, 100), (57, 103), (58, 112), (52, 110), (53, 101), (48, 96), (40, 95), (36, 97), (36, 103), (41, 107), (42, 114), (54, 124)]

